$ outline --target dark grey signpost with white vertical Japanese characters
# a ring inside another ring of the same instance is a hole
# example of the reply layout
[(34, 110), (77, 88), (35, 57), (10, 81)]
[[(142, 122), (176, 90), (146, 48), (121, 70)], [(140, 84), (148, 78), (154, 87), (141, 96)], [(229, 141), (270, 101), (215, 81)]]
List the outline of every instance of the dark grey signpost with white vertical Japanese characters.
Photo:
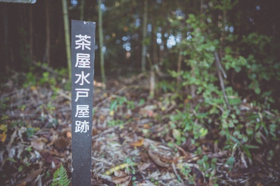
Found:
[(90, 185), (96, 24), (71, 24), (72, 185)]

